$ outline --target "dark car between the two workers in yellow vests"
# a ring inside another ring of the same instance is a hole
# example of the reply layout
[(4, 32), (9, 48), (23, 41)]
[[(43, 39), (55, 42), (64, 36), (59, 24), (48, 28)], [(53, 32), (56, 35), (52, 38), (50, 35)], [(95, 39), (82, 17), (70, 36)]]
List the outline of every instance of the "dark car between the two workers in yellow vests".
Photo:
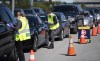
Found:
[(34, 15), (26, 15), (26, 18), (29, 21), (31, 40), (29, 42), (24, 42), (24, 47), (27, 48), (28, 45), (31, 46), (34, 51), (37, 51), (38, 47), (41, 45), (48, 46), (49, 34), (42, 20)]

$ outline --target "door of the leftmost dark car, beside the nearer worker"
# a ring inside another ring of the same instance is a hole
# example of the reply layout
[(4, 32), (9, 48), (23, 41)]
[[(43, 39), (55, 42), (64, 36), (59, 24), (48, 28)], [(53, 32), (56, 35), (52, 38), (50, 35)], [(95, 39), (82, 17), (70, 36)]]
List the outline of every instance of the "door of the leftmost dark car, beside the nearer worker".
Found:
[(7, 16), (4, 9), (0, 9), (0, 56), (9, 53), (12, 50), (11, 48), (13, 47), (13, 45), (12, 47), (9, 47), (9, 44), (13, 42), (13, 30), (7, 26), (7, 22), (4, 21), (2, 13), (5, 13), (5, 18), (8, 18), (9, 20), (9, 17)]

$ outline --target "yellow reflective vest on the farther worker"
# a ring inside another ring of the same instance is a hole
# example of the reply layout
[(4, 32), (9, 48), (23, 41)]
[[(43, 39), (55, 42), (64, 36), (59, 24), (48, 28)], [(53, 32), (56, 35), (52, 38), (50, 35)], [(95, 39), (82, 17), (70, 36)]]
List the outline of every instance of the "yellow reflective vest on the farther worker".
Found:
[(59, 22), (57, 24), (54, 24), (54, 21), (53, 21), (53, 17), (54, 16), (56, 16), (56, 15), (53, 14), (53, 13), (48, 14), (48, 23), (52, 24), (52, 25), (49, 25), (49, 29), (50, 30), (55, 30), (55, 29), (57, 29), (59, 27)]

